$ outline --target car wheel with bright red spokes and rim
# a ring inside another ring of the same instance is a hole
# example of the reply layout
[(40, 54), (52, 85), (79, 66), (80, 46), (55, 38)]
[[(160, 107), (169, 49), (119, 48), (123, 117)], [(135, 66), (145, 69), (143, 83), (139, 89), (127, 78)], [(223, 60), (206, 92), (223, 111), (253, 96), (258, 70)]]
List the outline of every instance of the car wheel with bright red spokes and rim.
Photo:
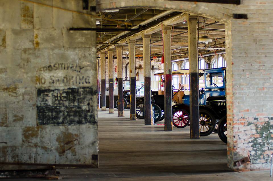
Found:
[(173, 125), (184, 128), (190, 123), (190, 114), (185, 109), (177, 109), (173, 113)]

